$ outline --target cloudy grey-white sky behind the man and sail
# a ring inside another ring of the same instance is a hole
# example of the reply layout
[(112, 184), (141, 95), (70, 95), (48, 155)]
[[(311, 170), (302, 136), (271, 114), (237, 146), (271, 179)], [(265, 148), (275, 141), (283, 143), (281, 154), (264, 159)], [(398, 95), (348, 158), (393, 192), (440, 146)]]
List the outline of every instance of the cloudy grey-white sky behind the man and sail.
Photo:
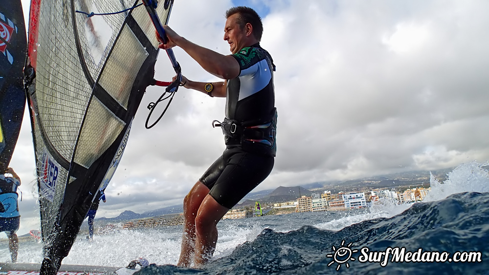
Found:
[[(489, 160), (488, 1), (177, 0), (169, 25), (229, 54), (224, 12), (236, 4), (262, 16), (261, 44), (277, 65), (277, 158), (255, 190)], [(189, 79), (218, 81), (175, 55)], [(173, 75), (162, 52), (155, 77)], [(147, 130), (146, 106), (161, 92), (148, 89), (97, 217), (181, 204), (224, 150), (211, 122), (225, 99), (181, 88)], [(11, 166), (22, 177), (23, 234), (39, 229), (27, 116)]]

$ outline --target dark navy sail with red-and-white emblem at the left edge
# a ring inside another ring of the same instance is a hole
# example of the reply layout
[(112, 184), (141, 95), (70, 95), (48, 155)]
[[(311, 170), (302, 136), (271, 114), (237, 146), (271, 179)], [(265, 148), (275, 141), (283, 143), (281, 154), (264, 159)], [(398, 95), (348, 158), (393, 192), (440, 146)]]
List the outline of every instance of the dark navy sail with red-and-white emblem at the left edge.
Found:
[(0, 3), (0, 173), (10, 163), (25, 108), (23, 68), (27, 49), (20, 0)]

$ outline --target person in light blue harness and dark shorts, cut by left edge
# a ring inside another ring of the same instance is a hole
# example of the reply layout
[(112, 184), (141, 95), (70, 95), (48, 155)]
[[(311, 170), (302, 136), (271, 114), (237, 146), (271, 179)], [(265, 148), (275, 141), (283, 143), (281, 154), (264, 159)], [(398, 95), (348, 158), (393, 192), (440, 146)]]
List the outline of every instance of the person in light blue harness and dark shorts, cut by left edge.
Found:
[[(5, 176), (11, 174), (12, 176)], [(12, 168), (7, 168), (4, 174), (0, 174), (0, 232), (5, 232), (8, 236), (8, 249), (12, 257), (12, 262), (17, 262), (17, 252), (19, 251), (19, 230), (21, 214), (17, 199), (17, 188), (21, 185), (21, 178)]]

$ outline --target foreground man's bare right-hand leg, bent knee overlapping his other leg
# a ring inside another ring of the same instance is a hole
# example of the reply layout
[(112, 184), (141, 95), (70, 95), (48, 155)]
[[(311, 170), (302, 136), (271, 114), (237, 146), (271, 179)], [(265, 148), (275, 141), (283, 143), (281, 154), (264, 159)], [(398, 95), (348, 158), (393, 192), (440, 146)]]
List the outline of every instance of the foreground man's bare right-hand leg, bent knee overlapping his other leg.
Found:
[(196, 241), (194, 264), (201, 267), (211, 258), (216, 249), (217, 223), (229, 209), (220, 205), (210, 195), (205, 196), (195, 218)]

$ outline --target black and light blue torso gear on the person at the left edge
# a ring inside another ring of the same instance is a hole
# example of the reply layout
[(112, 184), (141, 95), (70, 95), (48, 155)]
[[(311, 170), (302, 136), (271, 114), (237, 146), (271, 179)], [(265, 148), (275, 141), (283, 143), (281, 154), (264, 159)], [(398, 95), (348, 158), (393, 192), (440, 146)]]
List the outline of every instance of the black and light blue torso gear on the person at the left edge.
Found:
[(17, 187), (21, 183), (18, 179), (0, 175), (0, 218), (14, 218), (21, 214), (17, 199)]

